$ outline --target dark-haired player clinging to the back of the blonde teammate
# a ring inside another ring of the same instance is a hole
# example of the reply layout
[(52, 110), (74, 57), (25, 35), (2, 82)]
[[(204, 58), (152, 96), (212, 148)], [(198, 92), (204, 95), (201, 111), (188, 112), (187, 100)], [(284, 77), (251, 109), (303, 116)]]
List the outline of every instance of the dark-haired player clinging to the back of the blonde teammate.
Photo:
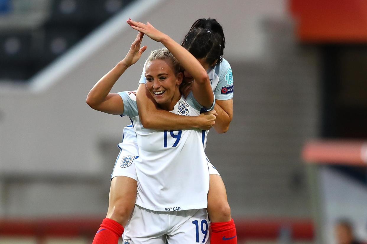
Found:
[[(140, 41), (141, 42), (141, 41)], [(217, 121), (214, 125), (219, 133), (226, 132), (233, 115), (233, 78), (232, 70), (228, 62), (222, 59), (225, 47), (225, 38), (221, 25), (215, 19), (199, 19), (191, 27), (186, 35), (183, 44), (208, 71), (211, 79), (211, 86), (216, 98), (215, 109), (218, 110)], [(144, 47), (143, 47), (144, 48)], [(214, 66), (212, 64), (216, 63)], [(184, 72), (185, 76), (191, 78), (189, 72)], [(204, 119), (204, 113), (199, 117), (178, 116), (157, 107), (149, 91), (145, 86), (145, 71), (142, 72), (142, 79), (139, 82), (137, 93), (138, 107), (142, 124), (146, 128), (154, 129), (190, 129), (202, 128), (210, 129), (213, 123)], [(191, 86), (192, 83), (189, 83)], [(186, 86), (186, 94), (190, 87)], [(204, 138), (205, 142), (205, 138)], [(119, 144), (121, 152), (116, 159), (115, 168), (111, 176), (111, 189), (109, 197), (109, 208), (106, 219), (101, 226), (106, 226), (104, 222), (117, 222), (117, 226), (125, 226), (134, 208), (137, 189), (137, 176), (132, 165), (121, 167), (128, 155), (138, 155), (137, 139), (132, 125), (124, 128), (124, 139)], [(208, 194), (208, 213), (212, 222), (211, 243), (237, 243), (236, 229), (230, 215), (230, 208), (227, 202), (224, 183), (217, 170), (209, 165), (210, 188)], [(122, 228), (122, 227), (121, 227)], [(114, 237), (117, 243), (121, 232), (100, 232), (96, 237), (99, 239), (109, 239)], [(96, 240), (96, 239), (95, 239)], [(225, 242), (223, 242), (225, 240)], [(103, 241), (103, 243), (107, 243)]]

